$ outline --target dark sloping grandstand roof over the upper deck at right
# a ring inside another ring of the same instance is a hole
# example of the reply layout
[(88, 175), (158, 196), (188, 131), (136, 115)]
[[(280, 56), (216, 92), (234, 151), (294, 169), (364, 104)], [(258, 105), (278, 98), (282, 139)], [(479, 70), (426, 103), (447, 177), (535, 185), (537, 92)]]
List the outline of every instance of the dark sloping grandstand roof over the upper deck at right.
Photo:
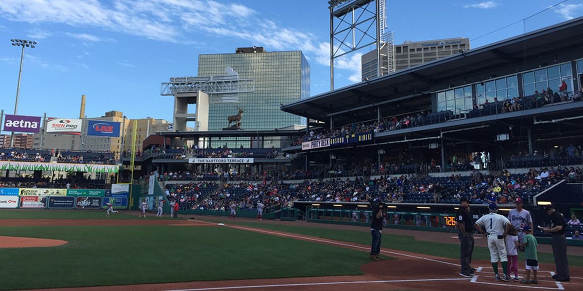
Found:
[[(396, 73), (315, 95), (283, 105), (281, 109), (322, 121), (327, 121), (330, 116), (344, 115), (343, 118), (349, 121), (349, 119), (374, 119), (376, 113), (371, 111), (374, 107), (390, 103), (398, 107), (404, 100), (407, 100), (407, 107), (410, 108), (429, 107), (430, 98), (413, 97), (429, 97), (432, 84), (512, 61), (522, 62), (542, 54), (553, 53), (557, 49), (581, 44), (581, 31), (583, 31), (583, 17), (578, 17)], [(359, 110), (364, 110), (364, 115), (360, 114), (356, 117), (356, 111)], [(344, 114), (347, 112), (351, 112), (351, 115)], [(371, 118), (373, 114), (374, 117)]]

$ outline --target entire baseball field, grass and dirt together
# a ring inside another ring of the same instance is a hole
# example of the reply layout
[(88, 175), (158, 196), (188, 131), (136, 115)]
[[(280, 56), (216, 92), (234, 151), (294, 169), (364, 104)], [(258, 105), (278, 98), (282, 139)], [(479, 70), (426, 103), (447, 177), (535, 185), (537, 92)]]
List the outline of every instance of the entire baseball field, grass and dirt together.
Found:
[[(368, 260), (366, 227), (222, 217), (138, 218), (122, 211), (0, 211), (0, 290), (580, 290), (583, 251), (569, 249), (571, 282), (554, 282), (540, 245), (538, 285), (496, 282), (476, 239), (473, 278), (459, 273), (451, 233), (385, 229), (384, 260)], [(519, 258), (524, 273), (524, 262)]]

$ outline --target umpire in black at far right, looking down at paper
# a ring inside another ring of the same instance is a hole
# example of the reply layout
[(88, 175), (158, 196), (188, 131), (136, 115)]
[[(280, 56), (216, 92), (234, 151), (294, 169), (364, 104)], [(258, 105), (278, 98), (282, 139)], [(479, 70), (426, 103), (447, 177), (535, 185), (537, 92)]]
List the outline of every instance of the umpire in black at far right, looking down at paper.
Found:
[(546, 205), (545, 210), (550, 217), (550, 228), (542, 228), (543, 232), (553, 235), (553, 257), (557, 274), (553, 279), (560, 282), (569, 282), (569, 264), (567, 262), (567, 238), (565, 237), (565, 221), (563, 214), (554, 210), (553, 205)]

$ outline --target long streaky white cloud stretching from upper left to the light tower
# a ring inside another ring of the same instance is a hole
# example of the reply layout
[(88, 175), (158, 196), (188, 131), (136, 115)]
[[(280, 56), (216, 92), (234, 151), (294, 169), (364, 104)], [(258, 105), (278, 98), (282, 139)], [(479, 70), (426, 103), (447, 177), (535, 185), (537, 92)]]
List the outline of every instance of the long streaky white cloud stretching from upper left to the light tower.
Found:
[[(244, 45), (261, 45), (271, 51), (301, 50), (316, 64), (329, 64), (328, 42), (308, 31), (282, 26), (269, 19), (270, 15), (260, 15), (235, 0), (0, 0), (0, 17), (31, 24), (99, 28), (184, 45), (204, 45), (199, 36), (208, 34), (243, 40)], [(66, 35), (85, 47), (114, 41), (87, 33)], [(336, 61), (338, 73), (347, 70), (344, 74), (350, 81), (360, 81), (360, 54)]]

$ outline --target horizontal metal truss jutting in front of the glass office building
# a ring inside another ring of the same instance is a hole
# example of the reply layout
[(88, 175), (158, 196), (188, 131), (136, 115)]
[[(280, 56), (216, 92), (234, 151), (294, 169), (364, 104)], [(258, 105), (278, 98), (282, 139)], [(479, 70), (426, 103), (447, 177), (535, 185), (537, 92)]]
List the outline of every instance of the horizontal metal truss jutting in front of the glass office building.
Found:
[(170, 82), (162, 83), (162, 96), (177, 93), (235, 94), (255, 91), (255, 79), (238, 79), (233, 76), (211, 77), (175, 77)]

